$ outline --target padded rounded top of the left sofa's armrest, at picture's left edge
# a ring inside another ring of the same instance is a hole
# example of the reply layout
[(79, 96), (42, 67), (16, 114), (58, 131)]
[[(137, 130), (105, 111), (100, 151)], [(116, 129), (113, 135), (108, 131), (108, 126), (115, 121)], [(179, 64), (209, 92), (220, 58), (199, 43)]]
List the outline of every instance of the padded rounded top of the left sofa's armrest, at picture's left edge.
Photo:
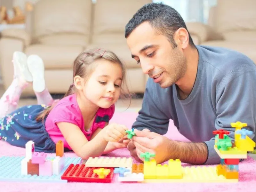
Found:
[(25, 29), (5, 29), (1, 32), (2, 38), (9, 38), (9, 39), (18, 39), (23, 41), (25, 46), (28, 46), (31, 43), (31, 38)]

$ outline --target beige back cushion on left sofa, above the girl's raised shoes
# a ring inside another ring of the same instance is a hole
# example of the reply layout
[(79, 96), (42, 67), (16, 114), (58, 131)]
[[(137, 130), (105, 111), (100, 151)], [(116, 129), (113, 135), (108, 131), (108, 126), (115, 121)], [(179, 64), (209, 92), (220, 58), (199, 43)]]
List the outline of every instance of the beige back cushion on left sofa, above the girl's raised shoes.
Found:
[(90, 34), (92, 0), (40, 0), (34, 5), (33, 37), (58, 34)]

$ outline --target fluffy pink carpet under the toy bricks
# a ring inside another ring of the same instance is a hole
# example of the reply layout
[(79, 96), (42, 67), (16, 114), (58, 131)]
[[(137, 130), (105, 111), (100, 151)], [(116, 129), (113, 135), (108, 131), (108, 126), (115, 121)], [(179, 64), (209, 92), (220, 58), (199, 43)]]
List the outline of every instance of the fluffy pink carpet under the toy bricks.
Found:
[[(125, 124), (129, 128), (135, 121), (136, 113), (116, 113), (111, 122)], [(169, 131), (166, 136), (170, 139), (188, 141), (179, 134), (172, 122), (169, 126)], [(9, 144), (0, 141), (1, 156), (24, 156), (25, 150), (10, 146)], [(75, 156), (73, 153), (67, 153), (66, 156)], [(116, 150), (109, 154), (109, 156), (128, 157), (127, 150)], [(14, 183), (14, 182), (0, 182), (0, 191), (13, 192), (13, 191), (37, 191), (37, 192), (82, 192), (82, 191), (191, 191), (191, 192), (206, 192), (206, 191), (255, 191), (256, 186), (256, 161), (248, 157), (244, 162), (239, 165), (239, 183), (218, 184), (218, 183)], [(0, 170), (1, 174), (1, 170)]]

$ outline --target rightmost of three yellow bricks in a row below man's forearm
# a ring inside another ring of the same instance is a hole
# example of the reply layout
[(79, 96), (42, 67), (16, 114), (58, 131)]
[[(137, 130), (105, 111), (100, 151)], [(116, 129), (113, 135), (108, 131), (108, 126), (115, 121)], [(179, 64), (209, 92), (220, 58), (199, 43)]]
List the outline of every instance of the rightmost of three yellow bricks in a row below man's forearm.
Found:
[(180, 159), (170, 159), (168, 161), (169, 179), (181, 179), (182, 167)]

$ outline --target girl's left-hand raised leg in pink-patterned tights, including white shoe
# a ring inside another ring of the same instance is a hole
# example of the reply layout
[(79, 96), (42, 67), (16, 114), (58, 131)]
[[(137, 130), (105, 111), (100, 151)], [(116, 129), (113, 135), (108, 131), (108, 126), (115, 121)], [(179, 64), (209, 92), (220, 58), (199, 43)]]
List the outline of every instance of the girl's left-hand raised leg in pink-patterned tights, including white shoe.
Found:
[(20, 95), (29, 82), (32, 82), (32, 76), (27, 66), (27, 56), (22, 52), (13, 53), (14, 77), (12, 84), (0, 99), (0, 118), (14, 111), (20, 100)]

